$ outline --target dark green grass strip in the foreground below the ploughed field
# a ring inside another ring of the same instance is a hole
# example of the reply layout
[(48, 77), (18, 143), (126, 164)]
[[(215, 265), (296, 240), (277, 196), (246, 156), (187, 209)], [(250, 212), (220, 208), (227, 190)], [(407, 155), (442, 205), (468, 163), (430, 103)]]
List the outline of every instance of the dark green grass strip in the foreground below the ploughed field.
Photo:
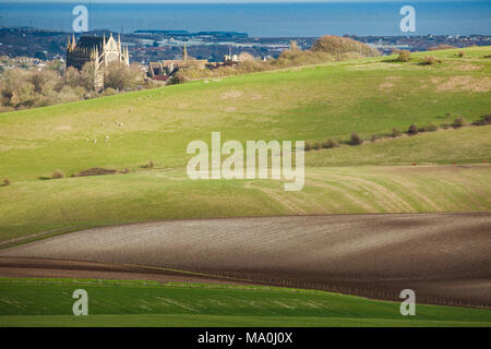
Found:
[[(88, 316), (72, 315), (75, 289)], [(0, 279), (0, 326), (491, 326), (491, 312), (323, 291), (144, 281)]]

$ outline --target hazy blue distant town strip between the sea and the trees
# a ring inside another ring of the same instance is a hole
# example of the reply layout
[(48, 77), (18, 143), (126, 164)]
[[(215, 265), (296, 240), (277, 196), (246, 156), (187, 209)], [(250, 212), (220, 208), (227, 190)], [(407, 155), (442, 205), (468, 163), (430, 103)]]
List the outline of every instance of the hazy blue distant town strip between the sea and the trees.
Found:
[[(328, 33), (326, 33), (328, 34)], [(65, 59), (67, 37), (72, 33), (44, 31), (33, 27), (0, 28), (0, 56), (27, 57), (40, 61)], [(93, 31), (84, 35), (109, 36), (109, 31)], [(131, 62), (147, 65), (149, 62), (176, 60), (188, 55), (199, 60), (220, 62), (224, 56), (248, 52), (258, 59), (277, 58), (295, 40), (300, 49), (308, 49), (318, 37), (250, 37), (247, 33), (187, 31), (135, 31), (121, 33), (121, 43), (128, 46)], [(80, 35), (75, 35), (76, 38)], [(489, 46), (491, 36), (356, 36), (345, 35), (388, 55), (393, 50), (426, 51), (439, 46)]]

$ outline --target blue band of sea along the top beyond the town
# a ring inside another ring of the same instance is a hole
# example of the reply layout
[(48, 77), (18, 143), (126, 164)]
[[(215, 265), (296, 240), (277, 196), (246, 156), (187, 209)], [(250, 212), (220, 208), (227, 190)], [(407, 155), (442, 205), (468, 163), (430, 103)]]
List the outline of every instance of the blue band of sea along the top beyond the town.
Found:
[[(0, 2), (0, 27), (72, 31), (72, 11), (88, 10), (88, 29), (247, 33), (252, 37), (332, 35), (491, 35), (491, 1), (370, 1), (260, 3)], [(415, 32), (402, 32), (404, 5)]]

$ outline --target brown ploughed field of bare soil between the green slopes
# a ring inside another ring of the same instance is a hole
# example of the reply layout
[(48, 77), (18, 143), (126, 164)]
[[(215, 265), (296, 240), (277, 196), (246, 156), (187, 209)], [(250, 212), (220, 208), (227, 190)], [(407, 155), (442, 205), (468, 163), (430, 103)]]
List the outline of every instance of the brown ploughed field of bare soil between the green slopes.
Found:
[[(121, 278), (118, 272), (124, 278), (217, 279), (391, 300), (409, 288), (418, 302), (491, 306), (490, 213), (146, 222), (52, 237), (0, 256), (0, 276), (8, 277), (67, 277), (70, 270), (71, 277), (111, 278), (112, 272)], [(71, 267), (52, 260), (96, 264)]]

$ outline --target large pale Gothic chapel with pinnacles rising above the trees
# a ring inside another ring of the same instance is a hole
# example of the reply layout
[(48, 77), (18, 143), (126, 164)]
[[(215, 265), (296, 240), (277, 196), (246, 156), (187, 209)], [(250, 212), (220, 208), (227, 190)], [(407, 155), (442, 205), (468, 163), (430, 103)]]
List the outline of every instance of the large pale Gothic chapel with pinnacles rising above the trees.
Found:
[(104, 72), (106, 67), (112, 62), (120, 62), (130, 65), (130, 53), (128, 46), (121, 45), (121, 37), (118, 35), (118, 41), (112, 34), (109, 38), (97, 36), (82, 36), (79, 43), (70, 37), (67, 45), (67, 68), (73, 67), (82, 70), (85, 63), (94, 64), (95, 87), (104, 87)]

